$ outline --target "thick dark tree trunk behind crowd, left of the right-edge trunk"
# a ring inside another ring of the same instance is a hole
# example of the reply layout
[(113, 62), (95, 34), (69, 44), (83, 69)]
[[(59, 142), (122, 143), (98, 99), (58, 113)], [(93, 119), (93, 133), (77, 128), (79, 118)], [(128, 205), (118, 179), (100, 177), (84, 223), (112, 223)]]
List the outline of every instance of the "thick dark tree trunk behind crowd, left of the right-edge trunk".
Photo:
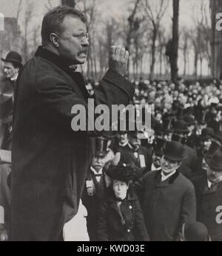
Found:
[(172, 18), (172, 48), (170, 56), (171, 79), (175, 84), (178, 83), (178, 42), (179, 42), (179, 1), (173, 0), (173, 18)]

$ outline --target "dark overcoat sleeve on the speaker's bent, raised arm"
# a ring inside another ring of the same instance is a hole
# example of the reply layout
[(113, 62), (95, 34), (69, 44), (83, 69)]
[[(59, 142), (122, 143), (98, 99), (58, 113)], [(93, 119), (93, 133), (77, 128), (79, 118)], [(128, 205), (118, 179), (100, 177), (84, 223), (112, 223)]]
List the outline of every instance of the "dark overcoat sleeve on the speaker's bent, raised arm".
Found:
[[(64, 77), (55, 77), (55, 73), (45, 73), (44, 76), (38, 77), (37, 81), (35, 90), (39, 109), (44, 109), (41, 114), (50, 116), (55, 125), (63, 124), (65, 128), (70, 129), (73, 117), (79, 115), (77, 109), (81, 108), (83, 110), (81, 112), (81, 131), (88, 131), (88, 123), (95, 123), (93, 114), (96, 105), (107, 105), (111, 112), (112, 105), (128, 105), (129, 99), (134, 93), (134, 88), (127, 79), (112, 70), (107, 71), (100, 85), (95, 89), (95, 106), (88, 105), (84, 97), (79, 95), (78, 85), (75, 85), (74, 81), (74, 85), (70, 86)], [(73, 108), (74, 106), (75, 108)], [(88, 119), (90, 120), (88, 121)], [(89, 134), (93, 135), (93, 132), (89, 131)]]

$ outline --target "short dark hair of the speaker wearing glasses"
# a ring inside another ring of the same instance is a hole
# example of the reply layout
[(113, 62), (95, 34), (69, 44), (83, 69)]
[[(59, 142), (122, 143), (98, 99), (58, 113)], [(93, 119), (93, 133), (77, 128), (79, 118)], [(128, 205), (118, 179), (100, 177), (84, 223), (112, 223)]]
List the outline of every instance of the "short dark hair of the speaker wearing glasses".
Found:
[(53, 10), (50, 10), (43, 18), (41, 25), (41, 42), (45, 45), (50, 42), (50, 33), (60, 34), (63, 30), (62, 23), (66, 16), (75, 16), (80, 19), (81, 22), (87, 23), (87, 16), (81, 11), (76, 10), (72, 7), (58, 6)]

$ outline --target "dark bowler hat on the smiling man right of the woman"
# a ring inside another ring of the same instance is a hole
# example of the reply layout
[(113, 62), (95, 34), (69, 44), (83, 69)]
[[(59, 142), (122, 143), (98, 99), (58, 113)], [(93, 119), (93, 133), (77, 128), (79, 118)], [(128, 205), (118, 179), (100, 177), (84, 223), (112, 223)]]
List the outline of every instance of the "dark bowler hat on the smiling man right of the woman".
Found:
[(172, 161), (181, 161), (186, 158), (184, 145), (177, 141), (166, 142), (164, 156)]

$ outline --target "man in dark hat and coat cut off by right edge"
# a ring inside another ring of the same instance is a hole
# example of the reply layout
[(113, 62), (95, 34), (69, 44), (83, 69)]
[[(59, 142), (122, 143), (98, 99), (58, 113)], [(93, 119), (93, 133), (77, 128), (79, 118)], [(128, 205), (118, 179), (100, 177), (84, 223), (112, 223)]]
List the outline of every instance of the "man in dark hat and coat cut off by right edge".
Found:
[(192, 182), (197, 197), (197, 220), (208, 229), (213, 241), (222, 241), (222, 148), (212, 142), (204, 160), (208, 165), (206, 172), (195, 177)]

